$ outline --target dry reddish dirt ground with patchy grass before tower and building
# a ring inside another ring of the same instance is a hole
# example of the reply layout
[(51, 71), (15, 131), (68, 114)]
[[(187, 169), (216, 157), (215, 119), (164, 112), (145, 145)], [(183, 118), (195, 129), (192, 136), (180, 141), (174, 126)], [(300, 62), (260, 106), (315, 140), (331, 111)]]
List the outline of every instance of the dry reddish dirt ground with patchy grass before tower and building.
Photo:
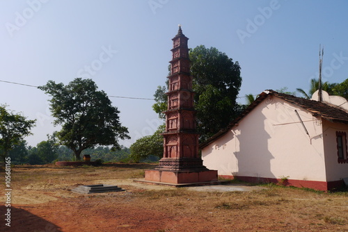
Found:
[[(13, 167), (11, 226), (4, 221), (2, 188), (0, 231), (348, 231), (347, 192), (273, 185), (246, 186), (252, 190), (248, 192), (196, 191), (133, 182), (153, 167)], [(125, 191), (71, 191), (98, 183)]]

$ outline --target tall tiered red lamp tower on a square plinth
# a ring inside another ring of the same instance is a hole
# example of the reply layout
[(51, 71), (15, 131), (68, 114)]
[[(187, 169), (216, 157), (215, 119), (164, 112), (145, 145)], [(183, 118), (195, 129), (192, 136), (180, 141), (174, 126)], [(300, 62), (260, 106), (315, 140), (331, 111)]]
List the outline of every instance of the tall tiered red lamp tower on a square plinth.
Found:
[(159, 166), (145, 171), (145, 181), (161, 183), (205, 183), (217, 181), (217, 171), (203, 166), (198, 155), (196, 110), (193, 108), (192, 76), (187, 38), (179, 25), (173, 40), (169, 79), (164, 155)]

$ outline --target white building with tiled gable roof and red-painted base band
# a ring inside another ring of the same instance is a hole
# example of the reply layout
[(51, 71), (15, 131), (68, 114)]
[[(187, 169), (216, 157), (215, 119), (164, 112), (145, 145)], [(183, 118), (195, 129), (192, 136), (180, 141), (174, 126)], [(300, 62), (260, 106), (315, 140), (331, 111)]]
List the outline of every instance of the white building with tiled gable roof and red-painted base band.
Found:
[(348, 177), (348, 102), (266, 90), (227, 129), (203, 144), (202, 158), (224, 178), (331, 190)]

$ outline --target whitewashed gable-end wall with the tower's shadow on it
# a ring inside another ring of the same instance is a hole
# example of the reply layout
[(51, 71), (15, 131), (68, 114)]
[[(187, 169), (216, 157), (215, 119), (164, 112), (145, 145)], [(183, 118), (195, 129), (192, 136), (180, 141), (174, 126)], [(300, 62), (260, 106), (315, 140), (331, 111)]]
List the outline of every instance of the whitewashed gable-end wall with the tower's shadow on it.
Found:
[(219, 175), (326, 181), (322, 121), (278, 97), (259, 103), (202, 156), (203, 164)]

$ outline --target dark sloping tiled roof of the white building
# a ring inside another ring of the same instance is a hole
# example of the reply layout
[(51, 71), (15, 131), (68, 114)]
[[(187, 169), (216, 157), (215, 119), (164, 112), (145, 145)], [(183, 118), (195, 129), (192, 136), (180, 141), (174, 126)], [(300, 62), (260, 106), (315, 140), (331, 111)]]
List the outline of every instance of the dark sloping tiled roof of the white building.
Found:
[(202, 142), (199, 146), (200, 149), (202, 149), (203, 147), (206, 147), (208, 144), (210, 144), (217, 138), (220, 138), (222, 135), (227, 133), (233, 126), (235, 126), (235, 124), (237, 124), (240, 120), (242, 120), (242, 118), (245, 115), (248, 115), (248, 113), (250, 113), (251, 110), (253, 110), (253, 108), (258, 106), (258, 104), (261, 101), (263, 101), (264, 99), (267, 99), (267, 97), (271, 95), (278, 97), (280, 99), (283, 99), (284, 101), (292, 103), (296, 106), (299, 106), (305, 110), (308, 110), (308, 112), (310, 112), (315, 117), (322, 117), (323, 119), (326, 119), (327, 121), (330, 121), (330, 122), (348, 124), (348, 112), (345, 110), (342, 110), (338, 106), (331, 106), (321, 101), (314, 101), (314, 100), (303, 99), (301, 97), (294, 97), (292, 95), (283, 94), (280, 92), (276, 92), (274, 90), (266, 90), (262, 92), (259, 95), (259, 97), (255, 99), (255, 101), (253, 101), (253, 103), (251, 103), (251, 105), (248, 106), (248, 108), (246, 108), (246, 110), (244, 110), (244, 112), (241, 115), (239, 115), (239, 117), (233, 120), (226, 129), (222, 129), (221, 131), (213, 135), (211, 138), (207, 139), (205, 142)]

